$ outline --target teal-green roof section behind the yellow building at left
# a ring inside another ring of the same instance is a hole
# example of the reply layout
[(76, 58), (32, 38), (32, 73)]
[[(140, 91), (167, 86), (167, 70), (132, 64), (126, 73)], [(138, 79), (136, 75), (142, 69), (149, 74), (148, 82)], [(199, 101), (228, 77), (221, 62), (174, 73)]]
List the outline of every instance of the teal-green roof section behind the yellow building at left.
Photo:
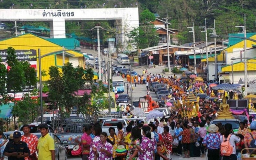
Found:
[(80, 41), (75, 38), (49, 38), (50, 42), (64, 46), (67, 49), (75, 49), (80, 47)]

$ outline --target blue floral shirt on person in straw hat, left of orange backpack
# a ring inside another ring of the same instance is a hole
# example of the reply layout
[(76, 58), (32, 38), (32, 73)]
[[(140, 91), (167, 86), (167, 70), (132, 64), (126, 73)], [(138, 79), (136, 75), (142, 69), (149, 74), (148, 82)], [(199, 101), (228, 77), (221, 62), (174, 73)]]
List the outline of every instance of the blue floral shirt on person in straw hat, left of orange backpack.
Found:
[(202, 144), (207, 144), (207, 149), (219, 149), (220, 148), (220, 136), (217, 133), (209, 133), (204, 137)]

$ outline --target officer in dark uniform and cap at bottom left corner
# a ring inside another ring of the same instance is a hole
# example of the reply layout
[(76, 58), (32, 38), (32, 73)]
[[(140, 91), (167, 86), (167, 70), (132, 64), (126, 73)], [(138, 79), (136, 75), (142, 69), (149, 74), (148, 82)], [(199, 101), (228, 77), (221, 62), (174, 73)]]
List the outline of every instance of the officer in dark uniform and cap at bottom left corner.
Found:
[(24, 160), (24, 157), (30, 155), (30, 151), (26, 142), (20, 141), (21, 133), (15, 131), (13, 133), (13, 142), (7, 143), (4, 155), (8, 157), (8, 160)]

